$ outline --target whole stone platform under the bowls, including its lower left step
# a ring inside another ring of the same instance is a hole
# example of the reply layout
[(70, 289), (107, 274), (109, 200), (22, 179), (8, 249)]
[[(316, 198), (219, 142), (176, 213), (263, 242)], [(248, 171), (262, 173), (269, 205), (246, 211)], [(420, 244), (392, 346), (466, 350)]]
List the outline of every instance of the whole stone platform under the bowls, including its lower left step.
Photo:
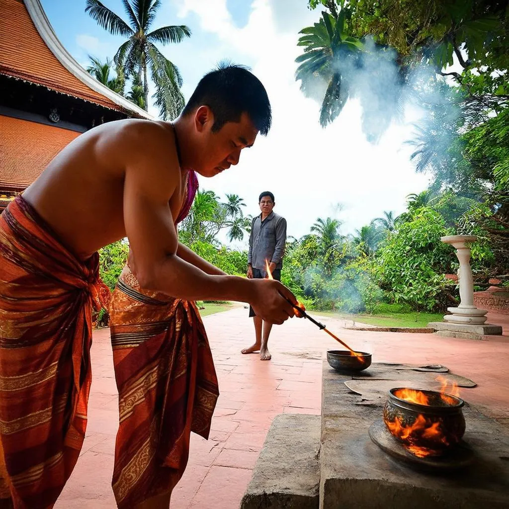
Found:
[(274, 419), (241, 509), (509, 507), (509, 429), (468, 405), (471, 389), (462, 389), (461, 396), (466, 400), (463, 439), (474, 450), (473, 463), (454, 472), (423, 472), (384, 453), (368, 430), (381, 418), (386, 386), (436, 388), (439, 373), (377, 363), (362, 373), (353, 392), (345, 384), (352, 385), (352, 377), (323, 362), (320, 438), (317, 416)]

